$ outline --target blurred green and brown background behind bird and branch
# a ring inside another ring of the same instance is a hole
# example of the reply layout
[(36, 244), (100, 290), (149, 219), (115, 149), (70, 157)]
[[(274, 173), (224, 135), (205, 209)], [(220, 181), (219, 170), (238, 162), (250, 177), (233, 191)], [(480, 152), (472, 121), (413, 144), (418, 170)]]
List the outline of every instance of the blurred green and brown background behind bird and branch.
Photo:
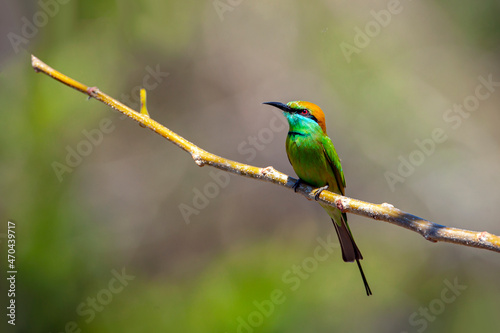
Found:
[[(498, 332), (498, 254), (351, 215), (368, 298), (338, 246), (316, 255), (337, 244), (319, 205), (199, 168), (30, 66), (35, 54), (136, 109), (148, 85), (155, 120), (293, 176), (281, 116), (261, 103), (314, 102), (348, 196), (499, 234), (500, 87), (478, 88), (500, 81), (498, 1), (0, 6), (3, 309), (9, 220), (18, 269), (2, 332)], [(436, 128), (446, 139), (430, 144)]]

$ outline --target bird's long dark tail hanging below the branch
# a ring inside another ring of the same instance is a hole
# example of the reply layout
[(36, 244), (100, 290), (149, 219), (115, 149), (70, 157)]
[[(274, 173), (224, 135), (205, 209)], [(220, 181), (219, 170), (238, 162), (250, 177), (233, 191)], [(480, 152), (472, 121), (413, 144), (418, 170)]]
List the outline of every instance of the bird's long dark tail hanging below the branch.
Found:
[(354, 260), (356, 260), (359, 272), (361, 273), (361, 278), (363, 278), (363, 283), (365, 284), (366, 295), (370, 296), (372, 294), (372, 291), (370, 289), (370, 286), (368, 285), (368, 281), (366, 280), (363, 268), (361, 268), (361, 263), (359, 262), (361, 259), (363, 259), (363, 256), (361, 255), (356, 242), (354, 242), (351, 230), (347, 225), (347, 216), (345, 215), (345, 213), (338, 213), (335, 214), (335, 219), (338, 219), (340, 223), (335, 221), (333, 217), (332, 222), (335, 226), (335, 231), (337, 231), (337, 236), (339, 237), (340, 248), (342, 249), (342, 259), (344, 259), (344, 261), (346, 262), (353, 262)]

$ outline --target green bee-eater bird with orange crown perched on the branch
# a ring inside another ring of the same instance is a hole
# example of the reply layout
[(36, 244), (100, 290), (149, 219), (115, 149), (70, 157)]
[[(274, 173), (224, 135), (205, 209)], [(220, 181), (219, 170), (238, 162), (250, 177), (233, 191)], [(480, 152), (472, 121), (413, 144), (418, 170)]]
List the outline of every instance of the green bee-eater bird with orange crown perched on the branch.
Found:
[[(319, 106), (306, 101), (265, 102), (283, 112), (289, 125), (286, 137), (286, 153), (293, 170), (299, 179), (293, 185), (297, 191), (300, 183), (305, 182), (316, 187), (315, 199), (319, 200), (322, 191), (328, 189), (345, 195), (345, 178), (339, 156), (332, 140), (326, 133), (325, 114)], [(347, 224), (347, 215), (337, 207), (319, 203), (326, 210), (339, 238), (342, 259), (358, 264), (366, 294), (372, 295), (363, 268), (359, 262), (363, 259)]]

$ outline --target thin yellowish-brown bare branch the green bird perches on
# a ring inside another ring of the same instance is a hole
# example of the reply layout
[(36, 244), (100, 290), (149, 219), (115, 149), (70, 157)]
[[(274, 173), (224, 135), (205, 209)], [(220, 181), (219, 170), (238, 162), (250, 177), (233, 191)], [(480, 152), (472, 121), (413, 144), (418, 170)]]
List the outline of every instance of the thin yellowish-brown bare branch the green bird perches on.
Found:
[[(274, 183), (293, 190), (292, 186), (295, 184), (296, 179), (275, 170), (273, 167), (258, 168), (209, 153), (149, 118), (147, 111), (141, 113), (136, 112), (128, 106), (118, 102), (114, 98), (99, 91), (99, 89), (95, 87), (88, 87), (54, 70), (33, 55), (31, 56), (31, 64), (36, 72), (43, 72), (66, 84), (67, 86), (103, 102), (113, 109), (134, 119), (143, 127), (148, 127), (149, 129), (160, 134), (167, 140), (176, 144), (179, 148), (188, 152), (194, 162), (199, 166), (210, 165), (220, 170), (248, 178), (255, 178)], [(301, 184), (297, 188), (297, 192), (304, 195), (309, 200), (314, 200), (314, 188), (311, 186)], [(323, 191), (319, 200), (327, 205), (337, 207), (344, 212), (370, 217), (375, 220), (387, 221), (400, 227), (410, 229), (432, 242), (448, 242), (500, 252), (500, 237), (485, 231), (477, 232), (447, 227), (424, 220), (418, 216), (405, 213), (387, 203), (380, 205), (372, 204), (344, 197), (329, 191)]]

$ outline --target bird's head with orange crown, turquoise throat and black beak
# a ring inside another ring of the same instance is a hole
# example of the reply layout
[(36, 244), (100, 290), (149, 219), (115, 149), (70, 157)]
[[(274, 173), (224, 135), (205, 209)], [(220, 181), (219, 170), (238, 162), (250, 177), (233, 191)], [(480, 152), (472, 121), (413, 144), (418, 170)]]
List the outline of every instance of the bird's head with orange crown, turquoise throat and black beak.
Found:
[(305, 101), (293, 101), (286, 104), (266, 102), (263, 104), (272, 105), (283, 111), (290, 125), (295, 121), (299, 123), (314, 121), (326, 134), (325, 114), (316, 104)]

